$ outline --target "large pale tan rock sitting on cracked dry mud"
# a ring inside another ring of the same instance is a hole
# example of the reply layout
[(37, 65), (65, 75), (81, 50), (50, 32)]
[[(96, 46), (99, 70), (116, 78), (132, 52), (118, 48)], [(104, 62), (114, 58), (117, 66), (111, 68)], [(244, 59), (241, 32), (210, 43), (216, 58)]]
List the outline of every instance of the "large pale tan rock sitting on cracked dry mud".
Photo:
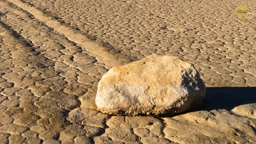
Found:
[(95, 103), (110, 115), (170, 116), (198, 106), (204, 96), (204, 81), (192, 64), (153, 54), (105, 73)]

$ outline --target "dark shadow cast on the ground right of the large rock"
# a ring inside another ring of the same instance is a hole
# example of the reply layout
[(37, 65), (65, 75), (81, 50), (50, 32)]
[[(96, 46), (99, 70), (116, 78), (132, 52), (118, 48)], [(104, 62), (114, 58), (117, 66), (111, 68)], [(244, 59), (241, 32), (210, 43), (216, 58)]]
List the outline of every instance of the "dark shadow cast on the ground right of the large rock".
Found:
[(211, 111), (256, 103), (256, 87), (207, 87), (201, 109)]

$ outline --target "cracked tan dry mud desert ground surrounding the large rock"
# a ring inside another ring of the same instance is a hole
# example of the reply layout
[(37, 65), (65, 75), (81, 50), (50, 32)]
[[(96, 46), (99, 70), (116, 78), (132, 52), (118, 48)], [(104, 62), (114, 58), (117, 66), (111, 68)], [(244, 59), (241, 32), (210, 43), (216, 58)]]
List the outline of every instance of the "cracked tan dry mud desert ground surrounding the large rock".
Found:
[[(255, 9), (252, 0), (0, 0), (0, 144), (255, 144)], [(96, 111), (103, 74), (154, 53), (194, 64), (203, 106), (161, 118)]]

